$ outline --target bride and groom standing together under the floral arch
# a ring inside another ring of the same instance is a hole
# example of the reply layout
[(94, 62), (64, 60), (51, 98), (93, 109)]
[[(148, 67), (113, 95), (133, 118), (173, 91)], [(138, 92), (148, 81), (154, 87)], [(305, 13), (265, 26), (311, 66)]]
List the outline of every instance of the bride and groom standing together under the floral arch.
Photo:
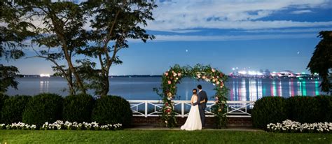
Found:
[(189, 111), (186, 123), (181, 126), (182, 130), (193, 131), (205, 129), (205, 108), (207, 108), (207, 92), (202, 90), (202, 85), (193, 89), (191, 96), (191, 110)]

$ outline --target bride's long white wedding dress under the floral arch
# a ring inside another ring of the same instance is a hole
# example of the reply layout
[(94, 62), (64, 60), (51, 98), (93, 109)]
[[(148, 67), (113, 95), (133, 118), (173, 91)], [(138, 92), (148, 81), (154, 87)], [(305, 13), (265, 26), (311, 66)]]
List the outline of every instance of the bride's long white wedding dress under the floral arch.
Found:
[[(198, 97), (196, 95), (191, 96), (191, 101), (193, 101), (193, 103), (195, 103), (197, 99)], [(198, 110), (198, 105), (191, 106), (186, 123), (181, 126), (181, 129), (186, 131), (202, 129), (202, 122), (200, 121), (200, 110)]]

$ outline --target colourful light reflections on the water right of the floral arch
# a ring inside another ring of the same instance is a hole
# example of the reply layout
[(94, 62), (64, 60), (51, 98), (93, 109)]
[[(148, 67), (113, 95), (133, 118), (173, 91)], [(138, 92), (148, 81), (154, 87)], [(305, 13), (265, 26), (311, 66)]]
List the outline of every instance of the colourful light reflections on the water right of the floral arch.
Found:
[(319, 80), (297, 78), (262, 79), (233, 78), (228, 82), (230, 101), (256, 101), (263, 96), (317, 96)]

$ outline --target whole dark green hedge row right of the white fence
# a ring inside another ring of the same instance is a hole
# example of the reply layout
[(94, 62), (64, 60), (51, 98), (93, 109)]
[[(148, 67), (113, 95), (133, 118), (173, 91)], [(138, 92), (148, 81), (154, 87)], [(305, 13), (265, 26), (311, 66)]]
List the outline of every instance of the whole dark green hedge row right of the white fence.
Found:
[(255, 102), (251, 113), (253, 126), (293, 120), (301, 123), (332, 122), (332, 96), (293, 96), (284, 99), (267, 96)]

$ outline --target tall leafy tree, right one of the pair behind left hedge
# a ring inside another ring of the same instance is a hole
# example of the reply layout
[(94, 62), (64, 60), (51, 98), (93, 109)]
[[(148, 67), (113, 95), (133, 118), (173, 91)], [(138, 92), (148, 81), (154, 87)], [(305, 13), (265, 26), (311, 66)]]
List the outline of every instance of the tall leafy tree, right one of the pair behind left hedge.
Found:
[(78, 61), (84, 78), (90, 80), (89, 87), (95, 94), (105, 96), (109, 92), (109, 71), (114, 64), (122, 64), (117, 53), (128, 48), (127, 39), (141, 39), (144, 43), (155, 38), (141, 26), (146, 20), (153, 20), (152, 10), (156, 6), (147, 1), (87, 1), (85, 10), (90, 11), (88, 41), (90, 45), (82, 47), (80, 54), (97, 59)]

